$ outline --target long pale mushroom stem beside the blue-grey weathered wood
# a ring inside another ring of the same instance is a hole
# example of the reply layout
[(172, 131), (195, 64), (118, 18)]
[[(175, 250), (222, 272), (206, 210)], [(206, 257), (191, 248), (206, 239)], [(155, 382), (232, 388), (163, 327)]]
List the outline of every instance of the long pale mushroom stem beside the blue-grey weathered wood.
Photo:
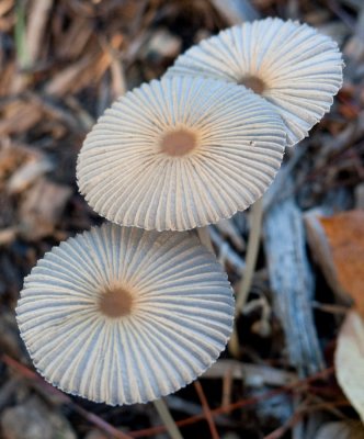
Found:
[(234, 357), (239, 357), (239, 337), (237, 333), (237, 317), (240, 314), (242, 307), (244, 306), (248, 294), (251, 288), (251, 283), (254, 275), (254, 269), (257, 264), (260, 235), (262, 228), (262, 217), (263, 217), (263, 199), (260, 198), (251, 209), (251, 229), (248, 240), (247, 249), (247, 266), (243, 271), (242, 280), (240, 281), (239, 288), (236, 292), (236, 308), (235, 308), (235, 326), (234, 331), (229, 341), (229, 351)]

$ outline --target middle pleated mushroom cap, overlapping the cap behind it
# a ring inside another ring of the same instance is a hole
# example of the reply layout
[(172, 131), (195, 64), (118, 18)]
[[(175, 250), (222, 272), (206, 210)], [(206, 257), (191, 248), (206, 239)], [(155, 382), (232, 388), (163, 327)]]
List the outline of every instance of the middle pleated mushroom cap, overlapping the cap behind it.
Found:
[(250, 90), (164, 78), (126, 93), (100, 117), (81, 148), (78, 183), (114, 223), (186, 230), (259, 199), (285, 144), (281, 117)]

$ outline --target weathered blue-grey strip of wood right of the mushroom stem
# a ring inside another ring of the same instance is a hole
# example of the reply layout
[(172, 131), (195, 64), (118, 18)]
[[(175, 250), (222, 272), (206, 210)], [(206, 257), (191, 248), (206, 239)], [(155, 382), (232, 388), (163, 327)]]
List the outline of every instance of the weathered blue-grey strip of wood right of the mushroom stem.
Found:
[[(280, 184), (278, 177), (273, 190)], [(292, 180), (286, 184), (292, 185)], [(263, 230), (273, 305), (284, 329), (288, 361), (300, 375), (315, 373), (323, 368), (311, 308), (315, 279), (306, 255), (302, 212), (293, 196), (271, 206)]]

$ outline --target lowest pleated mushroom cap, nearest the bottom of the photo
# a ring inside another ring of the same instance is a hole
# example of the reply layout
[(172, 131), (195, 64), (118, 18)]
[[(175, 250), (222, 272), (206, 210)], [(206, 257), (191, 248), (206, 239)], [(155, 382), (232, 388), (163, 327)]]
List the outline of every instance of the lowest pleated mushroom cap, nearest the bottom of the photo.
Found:
[[(107, 291), (123, 290), (128, 313), (102, 312)], [(230, 336), (234, 297), (192, 232), (107, 223), (47, 252), (25, 279), (16, 314), (47, 381), (121, 405), (175, 392), (209, 368)]]

